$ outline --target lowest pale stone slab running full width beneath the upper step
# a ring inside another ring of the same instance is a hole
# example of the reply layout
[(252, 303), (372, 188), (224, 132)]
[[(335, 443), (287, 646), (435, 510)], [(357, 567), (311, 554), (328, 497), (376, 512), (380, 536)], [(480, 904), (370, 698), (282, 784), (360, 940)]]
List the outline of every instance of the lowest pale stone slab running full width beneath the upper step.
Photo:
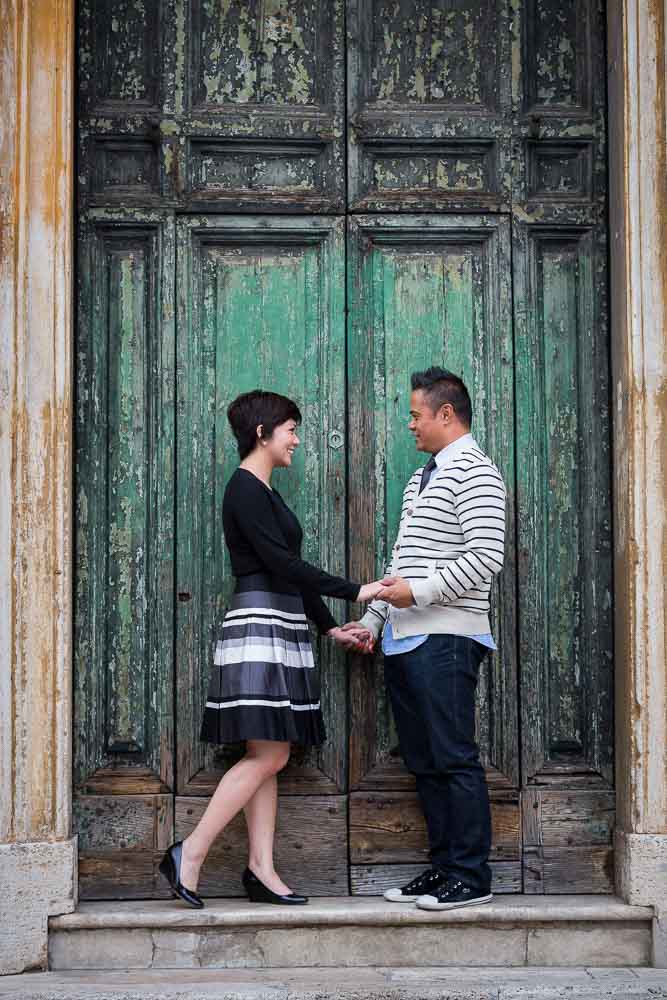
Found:
[(0, 977), (6, 1000), (663, 1000), (667, 970), (176, 969)]

